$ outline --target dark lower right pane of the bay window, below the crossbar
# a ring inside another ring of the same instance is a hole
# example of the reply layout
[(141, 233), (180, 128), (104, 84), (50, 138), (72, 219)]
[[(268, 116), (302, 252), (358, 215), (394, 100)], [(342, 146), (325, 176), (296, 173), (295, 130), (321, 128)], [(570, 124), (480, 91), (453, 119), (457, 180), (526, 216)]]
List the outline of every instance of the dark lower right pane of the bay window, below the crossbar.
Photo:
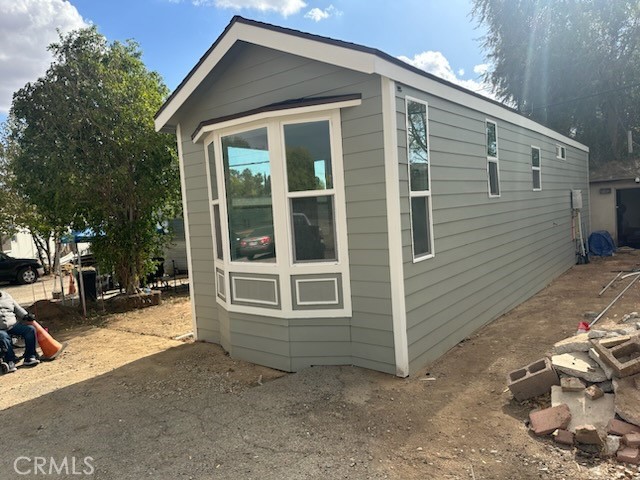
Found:
[(294, 260), (336, 260), (333, 197), (291, 199)]

